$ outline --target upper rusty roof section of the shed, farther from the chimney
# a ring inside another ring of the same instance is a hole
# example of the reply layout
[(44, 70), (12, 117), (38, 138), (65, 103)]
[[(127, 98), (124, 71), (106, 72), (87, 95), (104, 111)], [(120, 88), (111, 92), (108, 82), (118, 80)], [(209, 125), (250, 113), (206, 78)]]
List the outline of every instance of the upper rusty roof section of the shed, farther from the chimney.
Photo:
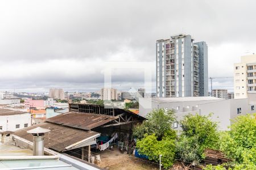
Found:
[(104, 114), (69, 112), (48, 118), (46, 121), (53, 124), (65, 125), (72, 128), (90, 130), (116, 120), (118, 117)]

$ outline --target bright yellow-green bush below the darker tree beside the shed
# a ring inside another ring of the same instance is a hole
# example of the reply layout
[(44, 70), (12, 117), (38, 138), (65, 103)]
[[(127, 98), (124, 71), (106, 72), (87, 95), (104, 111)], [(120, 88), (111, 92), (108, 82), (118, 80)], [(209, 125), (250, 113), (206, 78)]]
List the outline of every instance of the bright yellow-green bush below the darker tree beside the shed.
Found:
[(164, 168), (171, 167), (175, 161), (175, 139), (164, 135), (161, 141), (158, 141), (155, 134), (145, 135), (141, 141), (137, 142), (139, 154), (147, 155), (149, 160), (159, 162), (159, 155), (162, 155), (162, 164)]

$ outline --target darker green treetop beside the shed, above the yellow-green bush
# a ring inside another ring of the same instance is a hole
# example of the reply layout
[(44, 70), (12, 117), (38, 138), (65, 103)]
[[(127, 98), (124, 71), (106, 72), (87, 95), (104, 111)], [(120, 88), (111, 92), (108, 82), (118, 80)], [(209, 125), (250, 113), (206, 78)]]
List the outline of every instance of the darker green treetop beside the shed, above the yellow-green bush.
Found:
[(142, 139), (144, 134), (155, 134), (158, 141), (162, 140), (165, 133), (176, 136), (176, 131), (172, 129), (175, 121), (174, 111), (165, 109), (154, 109), (147, 114), (147, 120), (134, 129), (134, 137)]

